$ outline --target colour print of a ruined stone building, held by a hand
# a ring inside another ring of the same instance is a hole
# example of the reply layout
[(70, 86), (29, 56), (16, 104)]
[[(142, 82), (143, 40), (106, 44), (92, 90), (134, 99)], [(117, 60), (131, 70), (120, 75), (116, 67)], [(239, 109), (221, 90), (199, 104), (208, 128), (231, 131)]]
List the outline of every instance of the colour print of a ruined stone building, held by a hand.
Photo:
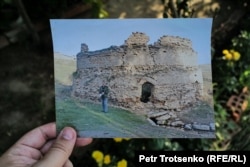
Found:
[(57, 131), (215, 138), (211, 18), (50, 19), (50, 27)]

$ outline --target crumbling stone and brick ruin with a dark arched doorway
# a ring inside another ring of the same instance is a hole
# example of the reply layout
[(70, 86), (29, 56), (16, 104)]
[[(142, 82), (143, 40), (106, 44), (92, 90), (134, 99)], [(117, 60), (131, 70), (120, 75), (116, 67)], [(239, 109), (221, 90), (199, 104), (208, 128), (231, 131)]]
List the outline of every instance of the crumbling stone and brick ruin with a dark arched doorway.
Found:
[(107, 81), (109, 104), (135, 113), (177, 112), (194, 104), (202, 96), (203, 80), (192, 42), (174, 36), (148, 41), (135, 32), (121, 46), (88, 51), (82, 44), (73, 96), (98, 102), (98, 89)]

